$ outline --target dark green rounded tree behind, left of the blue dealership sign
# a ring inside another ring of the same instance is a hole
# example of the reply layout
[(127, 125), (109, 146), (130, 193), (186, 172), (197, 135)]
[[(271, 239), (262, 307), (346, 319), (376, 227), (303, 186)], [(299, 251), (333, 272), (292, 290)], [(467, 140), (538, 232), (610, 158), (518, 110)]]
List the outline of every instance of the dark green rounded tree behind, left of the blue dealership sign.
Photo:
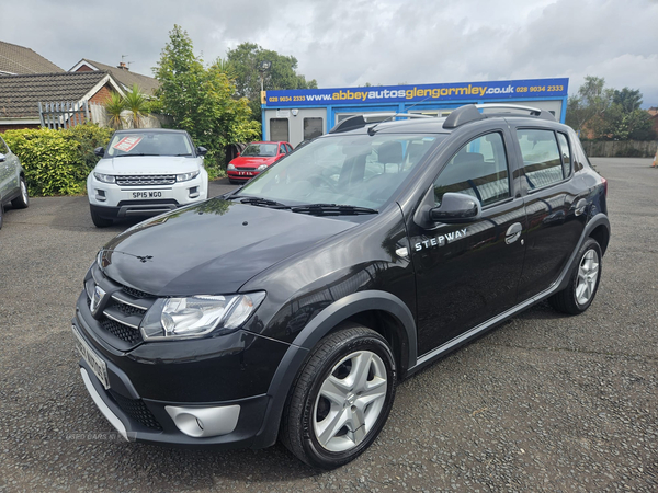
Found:
[(249, 100), (253, 118), (261, 119), (261, 72), (262, 61), (270, 61), (272, 66), (263, 72), (263, 87), (265, 91), (281, 89), (317, 89), (315, 79), (307, 81), (296, 72), (297, 59), (293, 56), (279, 55), (271, 49), (263, 49), (253, 43), (242, 43), (235, 49), (227, 51), (227, 61), (235, 70), (235, 84), (237, 94)]

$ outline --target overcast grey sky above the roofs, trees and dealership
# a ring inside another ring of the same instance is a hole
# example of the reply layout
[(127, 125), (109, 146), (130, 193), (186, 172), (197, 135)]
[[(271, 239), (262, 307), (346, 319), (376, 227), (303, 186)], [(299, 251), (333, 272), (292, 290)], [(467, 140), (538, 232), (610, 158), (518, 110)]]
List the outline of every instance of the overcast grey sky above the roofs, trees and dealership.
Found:
[(252, 42), (320, 88), (585, 76), (658, 106), (658, 0), (0, 0), (0, 39), (65, 70), (81, 58), (152, 76), (173, 24), (204, 60)]

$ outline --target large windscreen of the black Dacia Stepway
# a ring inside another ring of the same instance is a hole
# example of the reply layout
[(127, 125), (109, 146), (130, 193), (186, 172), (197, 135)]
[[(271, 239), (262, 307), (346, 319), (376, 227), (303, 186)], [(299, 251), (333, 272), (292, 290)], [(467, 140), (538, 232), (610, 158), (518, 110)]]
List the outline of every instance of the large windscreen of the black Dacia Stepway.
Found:
[(239, 194), (285, 205), (340, 204), (376, 209), (443, 138), (399, 134), (319, 138), (254, 177)]

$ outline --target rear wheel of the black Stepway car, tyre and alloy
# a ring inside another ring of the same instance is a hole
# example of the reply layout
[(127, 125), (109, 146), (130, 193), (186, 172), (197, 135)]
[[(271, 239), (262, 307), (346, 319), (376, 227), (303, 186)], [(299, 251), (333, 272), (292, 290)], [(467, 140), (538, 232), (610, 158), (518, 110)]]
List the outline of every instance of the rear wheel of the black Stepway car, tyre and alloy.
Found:
[(579, 314), (589, 308), (597, 296), (601, 280), (601, 246), (589, 238), (578, 252), (578, 263), (565, 289), (548, 298), (557, 311)]

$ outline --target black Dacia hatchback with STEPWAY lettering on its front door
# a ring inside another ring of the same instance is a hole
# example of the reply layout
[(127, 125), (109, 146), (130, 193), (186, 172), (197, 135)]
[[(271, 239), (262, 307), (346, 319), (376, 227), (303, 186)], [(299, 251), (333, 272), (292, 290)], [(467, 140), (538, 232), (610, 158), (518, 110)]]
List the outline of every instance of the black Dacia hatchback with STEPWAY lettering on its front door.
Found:
[(99, 252), (73, 334), (127, 439), (280, 438), (334, 468), (377, 437), (401, 378), (543, 299), (591, 305), (606, 182), (569, 127), (497, 105), (367, 119)]

